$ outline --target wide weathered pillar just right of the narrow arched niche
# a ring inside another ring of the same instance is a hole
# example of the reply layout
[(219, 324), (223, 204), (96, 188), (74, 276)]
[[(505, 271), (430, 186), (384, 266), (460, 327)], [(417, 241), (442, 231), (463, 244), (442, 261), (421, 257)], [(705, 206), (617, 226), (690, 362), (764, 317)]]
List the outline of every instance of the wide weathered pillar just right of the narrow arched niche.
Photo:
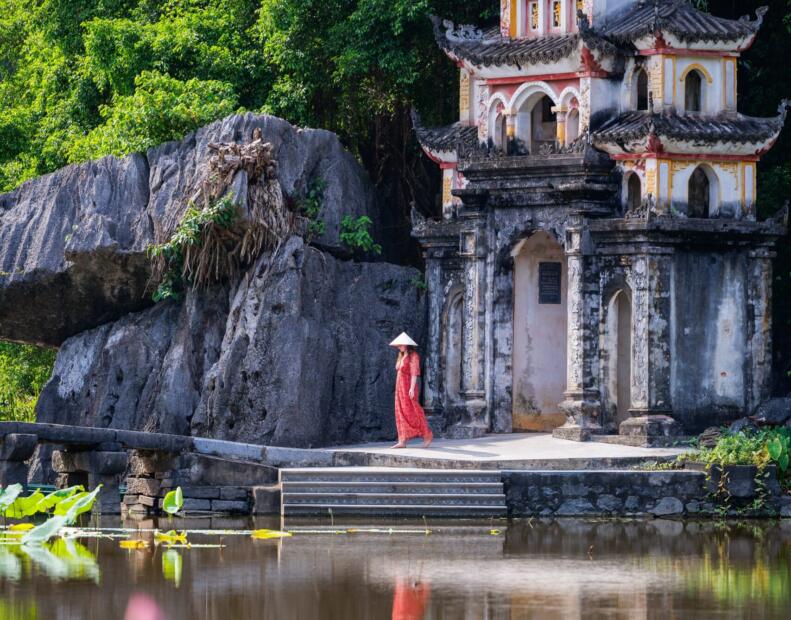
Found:
[(661, 248), (635, 256), (627, 277), (632, 289), (632, 417), (621, 423), (619, 433), (648, 444), (681, 431), (669, 415), (672, 261), (672, 250)]

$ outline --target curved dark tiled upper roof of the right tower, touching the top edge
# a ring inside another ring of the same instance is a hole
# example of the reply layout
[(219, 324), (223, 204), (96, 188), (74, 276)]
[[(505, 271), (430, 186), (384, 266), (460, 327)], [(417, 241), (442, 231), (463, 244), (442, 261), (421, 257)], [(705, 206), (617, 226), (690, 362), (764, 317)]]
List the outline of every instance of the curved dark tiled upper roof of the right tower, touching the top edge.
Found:
[(655, 32), (670, 33), (687, 42), (725, 42), (755, 36), (768, 11), (762, 7), (754, 21), (724, 19), (693, 7), (688, 0), (643, 0), (626, 14), (608, 20), (602, 34), (628, 43)]

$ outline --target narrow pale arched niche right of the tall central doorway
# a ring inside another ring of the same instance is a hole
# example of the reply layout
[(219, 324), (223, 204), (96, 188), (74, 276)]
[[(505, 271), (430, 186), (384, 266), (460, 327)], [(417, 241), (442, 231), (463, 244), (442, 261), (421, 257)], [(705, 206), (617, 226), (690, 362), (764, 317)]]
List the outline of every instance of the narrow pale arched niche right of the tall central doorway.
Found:
[(604, 349), (608, 410), (617, 426), (632, 408), (632, 300), (626, 290), (616, 292), (607, 307)]

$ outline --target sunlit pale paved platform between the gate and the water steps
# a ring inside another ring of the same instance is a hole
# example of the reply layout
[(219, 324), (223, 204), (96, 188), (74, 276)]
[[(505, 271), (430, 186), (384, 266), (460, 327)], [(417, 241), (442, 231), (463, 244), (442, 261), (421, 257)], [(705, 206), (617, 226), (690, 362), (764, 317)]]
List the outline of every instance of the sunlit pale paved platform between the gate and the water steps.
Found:
[(427, 449), (421, 440), (413, 440), (402, 450), (390, 448), (394, 442), (369, 443), (326, 448), (337, 453), (363, 453), (384, 457), (437, 459), (466, 462), (557, 462), (596, 460), (667, 459), (684, 453), (687, 448), (638, 448), (597, 442), (575, 442), (555, 439), (550, 434), (527, 433), (487, 435), (480, 439), (436, 439)]

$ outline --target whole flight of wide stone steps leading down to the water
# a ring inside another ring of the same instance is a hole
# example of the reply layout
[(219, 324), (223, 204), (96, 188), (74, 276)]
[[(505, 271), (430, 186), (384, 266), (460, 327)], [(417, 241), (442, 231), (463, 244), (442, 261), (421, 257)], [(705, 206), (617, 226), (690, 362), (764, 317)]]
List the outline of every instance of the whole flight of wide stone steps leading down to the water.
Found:
[(281, 469), (282, 514), (504, 517), (498, 471), (330, 467)]

